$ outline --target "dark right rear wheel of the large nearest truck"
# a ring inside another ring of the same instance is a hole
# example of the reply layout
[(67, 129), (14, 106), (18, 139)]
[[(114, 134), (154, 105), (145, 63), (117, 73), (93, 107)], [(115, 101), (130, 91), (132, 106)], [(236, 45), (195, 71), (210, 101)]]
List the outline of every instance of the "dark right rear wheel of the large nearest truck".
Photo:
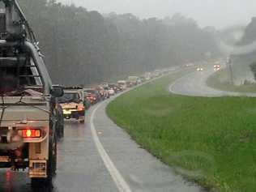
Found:
[(54, 136), (49, 141), (49, 160), (47, 161), (47, 177), (32, 178), (32, 186), (52, 185), (53, 176), (56, 174), (57, 168), (57, 136)]

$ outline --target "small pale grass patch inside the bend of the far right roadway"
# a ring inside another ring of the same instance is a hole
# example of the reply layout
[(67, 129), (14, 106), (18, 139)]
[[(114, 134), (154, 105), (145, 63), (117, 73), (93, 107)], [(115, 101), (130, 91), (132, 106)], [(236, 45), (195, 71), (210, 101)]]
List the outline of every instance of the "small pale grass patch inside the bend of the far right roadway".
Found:
[(250, 83), (245, 85), (233, 85), (230, 83), (230, 75), (228, 69), (215, 72), (207, 79), (207, 86), (229, 92), (256, 92), (256, 84)]

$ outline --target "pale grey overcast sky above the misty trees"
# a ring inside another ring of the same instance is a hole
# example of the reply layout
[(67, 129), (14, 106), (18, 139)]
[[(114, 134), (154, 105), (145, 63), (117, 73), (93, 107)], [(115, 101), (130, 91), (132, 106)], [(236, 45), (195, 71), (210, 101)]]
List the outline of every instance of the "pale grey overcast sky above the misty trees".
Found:
[(256, 16), (255, 0), (59, 0), (74, 2), (100, 13), (132, 13), (140, 18), (172, 16), (179, 12), (195, 19), (200, 26), (225, 28), (247, 24)]

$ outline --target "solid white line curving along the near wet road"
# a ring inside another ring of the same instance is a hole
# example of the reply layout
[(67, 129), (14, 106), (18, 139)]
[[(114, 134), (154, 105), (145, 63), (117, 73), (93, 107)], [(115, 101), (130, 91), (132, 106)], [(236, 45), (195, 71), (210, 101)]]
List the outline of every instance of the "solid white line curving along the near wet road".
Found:
[(92, 131), (92, 138), (96, 144), (96, 148), (100, 153), (100, 157), (103, 160), (105, 167), (108, 169), (111, 177), (113, 178), (113, 181), (115, 182), (117, 189), (120, 192), (131, 192), (130, 187), (128, 186), (128, 184), (126, 183), (125, 179), (122, 177), (121, 173), (119, 173), (119, 171), (117, 170), (117, 168), (115, 167), (115, 165), (113, 164), (113, 161), (110, 159), (108, 153), (105, 151), (105, 148), (103, 147), (102, 143), (100, 143), (100, 139), (96, 133), (96, 128), (94, 126), (93, 120), (94, 120), (94, 116), (95, 113), (97, 111), (97, 109), (100, 108), (101, 105), (103, 105), (104, 103), (101, 103), (100, 105), (98, 105), (96, 107), (96, 109), (93, 110), (92, 112), (92, 116), (90, 119), (90, 124), (91, 124), (91, 131)]

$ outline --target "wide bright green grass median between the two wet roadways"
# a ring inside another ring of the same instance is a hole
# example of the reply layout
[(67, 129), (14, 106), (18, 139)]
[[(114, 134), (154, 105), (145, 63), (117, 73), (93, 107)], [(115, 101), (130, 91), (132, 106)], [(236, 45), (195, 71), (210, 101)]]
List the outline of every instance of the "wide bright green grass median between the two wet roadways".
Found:
[(200, 185), (256, 191), (256, 99), (169, 94), (181, 74), (118, 97), (109, 117), (142, 147)]

